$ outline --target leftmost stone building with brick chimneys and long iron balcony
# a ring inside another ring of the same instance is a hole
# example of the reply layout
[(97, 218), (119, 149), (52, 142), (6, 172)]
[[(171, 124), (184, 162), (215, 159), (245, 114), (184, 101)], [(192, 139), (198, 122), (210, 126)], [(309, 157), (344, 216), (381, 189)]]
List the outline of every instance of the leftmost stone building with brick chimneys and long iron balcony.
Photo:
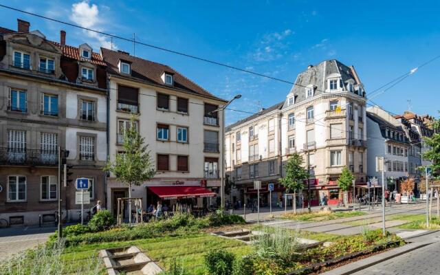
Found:
[[(59, 43), (48, 41), (19, 19), (17, 31), (0, 34), (0, 218), (11, 225), (52, 222), (61, 191), (63, 217), (76, 219), (74, 184), (61, 184), (58, 166), (67, 163), (72, 178), (94, 179), (91, 204), (104, 199), (100, 164), (107, 151), (96, 154), (93, 138), (106, 137), (106, 65), (86, 44), (65, 45), (63, 31)], [(88, 58), (81, 55), (86, 47)], [(94, 102), (91, 109), (86, 101)]]

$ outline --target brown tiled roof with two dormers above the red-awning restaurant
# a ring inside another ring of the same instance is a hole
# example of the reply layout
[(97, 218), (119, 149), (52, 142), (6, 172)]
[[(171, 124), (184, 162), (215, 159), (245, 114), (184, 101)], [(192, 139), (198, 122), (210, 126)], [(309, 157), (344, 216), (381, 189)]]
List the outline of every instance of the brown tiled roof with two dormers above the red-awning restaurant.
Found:
[[(101, 53), (104, 61), (107, 63), (107, 72), (109, 72), (109, 74), (119, 75), (124, 78), (141, 80), (146, 83), (161, 85), (169, 88), (170, 86), (164, 84), (161, 78), (164, 72), (168, 72), (174, 74), (173, 88), (225, 101), (212, 95), (209, 91), (206, 91), (206, 89), (203, 89), (196, 83), (192, 82), (192, 80), (186, 78), (186, 76), (182, 74), (179, 74), (179, 72), (167, 65), (155, 63), (153, 61), (148, 61), (135, 56), (130, 56), (129, 54), (123, 52), (116, 52), (113, 50), (105, 49), (103, 47), (101, 48)], [(131, 62), (131, 76), (120, 74), (118, 69), (118, 62), (120, 60)]]

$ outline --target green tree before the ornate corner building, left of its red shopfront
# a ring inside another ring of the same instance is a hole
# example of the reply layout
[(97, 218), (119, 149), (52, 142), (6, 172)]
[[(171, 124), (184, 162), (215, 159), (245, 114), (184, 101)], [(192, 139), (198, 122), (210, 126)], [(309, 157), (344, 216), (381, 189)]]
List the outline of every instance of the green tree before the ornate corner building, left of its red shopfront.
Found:
[(285, 177), (279, 179), (281, 185), (283, 185), (287, 192), (294, 192), (294, 213), (296, 214), (296, 192), (303, 190), (305, 179), (309, 178), (309, 173), (303, 167), (303, 157), (294, 153), (292, 157), (289, 157), (285, 164)]

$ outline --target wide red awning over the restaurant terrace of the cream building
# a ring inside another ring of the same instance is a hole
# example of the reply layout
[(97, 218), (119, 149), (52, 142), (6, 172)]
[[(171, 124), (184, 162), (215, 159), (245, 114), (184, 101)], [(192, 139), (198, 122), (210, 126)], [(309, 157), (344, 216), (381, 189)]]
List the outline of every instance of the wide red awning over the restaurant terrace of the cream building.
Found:
[(216, 196), (216, 193), (200, 186), (148, 186), (148, 189), (162, 199), (190, 199)]

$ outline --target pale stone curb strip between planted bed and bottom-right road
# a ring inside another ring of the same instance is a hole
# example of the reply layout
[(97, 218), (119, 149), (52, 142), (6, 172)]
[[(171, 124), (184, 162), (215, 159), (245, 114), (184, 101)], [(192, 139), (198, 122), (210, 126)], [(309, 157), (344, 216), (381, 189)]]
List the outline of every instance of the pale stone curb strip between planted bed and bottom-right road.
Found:
[(417, 250), (419, 248), (423, 248), (426, 245), (430, 245), (429, 243), (410, 243), (408, 245), (401, 246), (400, 248), (395, 248), (393, 250), (388, 250), (386, 252), (375, 254), (369, 258), (362, 259), (360, 261), (355, 261), (354, 263), (349, 263), (348, 265), (343, 265), (342, 267), (337, 267), (334, 270), (329, 270), (328, 272), (320, 273), (320, 275), (349, 275), (360, 270), (364, 270), (367, 267), (371, 267), (372, 265), (376, 265), (377, 263), (382, 263), (389, 259), (393, 259), (402, 254), (406, 254), (411, 252), (412, 250)]

